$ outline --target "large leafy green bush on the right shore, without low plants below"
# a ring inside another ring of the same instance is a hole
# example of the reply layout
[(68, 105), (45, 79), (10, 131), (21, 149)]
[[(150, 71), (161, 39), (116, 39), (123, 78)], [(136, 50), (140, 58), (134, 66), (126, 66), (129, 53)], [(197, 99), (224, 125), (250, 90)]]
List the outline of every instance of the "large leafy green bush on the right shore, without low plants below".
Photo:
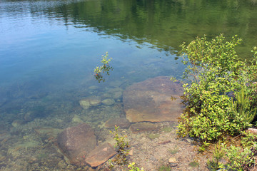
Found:
[(256, 65), (247, 66), (237, 60), (234, 47), (239, 43), (241, 39), (237, 36), (225, 41), (221, 34), (211, 41), (203, 36), (187, 46), (181, 45), (181, 56), (187, 66), (184, 78), (190, 82), (183, 85), (187, 110), (179, 120), (178, 134), (200, 138), (200, 150), (226, 135), (239, 135), (251, 126), (256, 114), (250, 98), (256, 91), (249, 86), (256, 81)]

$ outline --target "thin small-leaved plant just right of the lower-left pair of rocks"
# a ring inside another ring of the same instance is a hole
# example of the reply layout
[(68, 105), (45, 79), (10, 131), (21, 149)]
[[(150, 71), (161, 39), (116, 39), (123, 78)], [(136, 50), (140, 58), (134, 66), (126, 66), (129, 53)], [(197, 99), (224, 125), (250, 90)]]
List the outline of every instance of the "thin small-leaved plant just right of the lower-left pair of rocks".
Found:
[(119, 126), (115, 126), (114, 131), (110, 131), (112, 135), (114, 135), (114, 140), (116, 140), (116, 148), (117, 155), (114, 157), (113, 162), (117, 165), (126, 165), (128, 162), (127, 156), (129, 155), (129, 143), (126, 142), (126, 135), (119, 135)]

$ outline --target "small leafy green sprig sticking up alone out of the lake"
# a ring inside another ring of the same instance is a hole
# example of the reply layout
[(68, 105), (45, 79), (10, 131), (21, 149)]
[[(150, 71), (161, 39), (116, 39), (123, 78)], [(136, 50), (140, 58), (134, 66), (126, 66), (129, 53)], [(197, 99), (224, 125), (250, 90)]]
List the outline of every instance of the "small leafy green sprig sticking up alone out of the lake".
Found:
[(108, 57), (108, 52), (105, 53), (105, 56), (102, 55), (101, 63), (103, 63), (102, 66), (96, 66), (94, 69), (94, 77), (96, 78), (99, 83), (101, 81), (105, 81), (103, 73), (106, 73), (108, 76), (110, 75), (109, 71), (113, 71), (114, 68), (109, 66), (109, 62), (112, 60), (112, 58)]

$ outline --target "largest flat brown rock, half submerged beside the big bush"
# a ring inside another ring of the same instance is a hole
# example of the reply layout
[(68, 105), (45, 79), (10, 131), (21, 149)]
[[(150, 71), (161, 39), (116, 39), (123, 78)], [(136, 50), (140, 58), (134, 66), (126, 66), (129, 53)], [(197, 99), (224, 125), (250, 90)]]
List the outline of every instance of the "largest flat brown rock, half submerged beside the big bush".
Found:
[(183, 112), (181, 95), (182, 84), (166, 76), (134, 83), (123, 94), (126, 118), (131, 123), (177, 121)]

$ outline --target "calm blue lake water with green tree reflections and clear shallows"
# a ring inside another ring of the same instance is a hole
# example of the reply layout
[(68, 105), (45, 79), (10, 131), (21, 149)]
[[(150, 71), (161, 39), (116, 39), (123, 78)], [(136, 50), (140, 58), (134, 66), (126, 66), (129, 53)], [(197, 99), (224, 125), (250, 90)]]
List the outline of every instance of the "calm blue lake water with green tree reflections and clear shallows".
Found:
[[(257, 1), (0, 0), (0, 170), (68, 170), (61, 155), (42, 162), (54, 149), (43, 128), (76, 125), (74, 117), (101, 128), (124, 115), (122, 98), (91, 110), (79, 100), (156, 76), (180, 79), (179, 45), (219, 33), (243, 38), (238, 53), (251, 58)], [(106, 51), (114, 71), (99, 84), (94, 68)]]

